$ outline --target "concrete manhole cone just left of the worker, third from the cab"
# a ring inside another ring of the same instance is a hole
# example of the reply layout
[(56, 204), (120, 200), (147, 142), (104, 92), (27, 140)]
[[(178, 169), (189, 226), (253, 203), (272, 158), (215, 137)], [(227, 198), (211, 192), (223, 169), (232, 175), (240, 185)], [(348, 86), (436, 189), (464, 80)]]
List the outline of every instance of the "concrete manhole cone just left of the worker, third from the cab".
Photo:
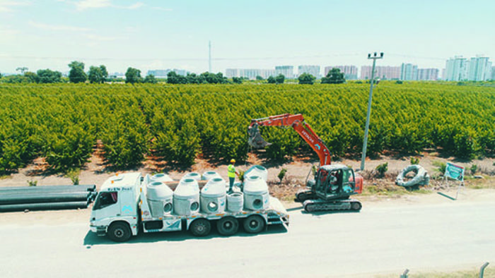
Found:
[(201, 190), (200, 203), (204, 213), (225, 212), (227, 205), (225, 180), (212, 178)]

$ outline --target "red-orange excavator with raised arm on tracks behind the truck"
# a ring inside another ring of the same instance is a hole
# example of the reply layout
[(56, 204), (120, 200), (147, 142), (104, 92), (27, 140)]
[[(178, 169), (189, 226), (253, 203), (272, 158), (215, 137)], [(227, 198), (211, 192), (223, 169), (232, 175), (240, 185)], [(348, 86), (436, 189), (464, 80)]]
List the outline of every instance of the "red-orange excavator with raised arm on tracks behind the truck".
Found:
[(308, 179), (306, 188), (296, 194), (296, 200), (303, 203), (306, 212), (361, 210), (359, 200), (349, 197), (363, 192), (363, 177), (345, 165), (330, 164), (330, 150), (304, 121), (302, 114), (252, 119), (248, 128), (248, 144), (255, 149), (271, 145), (262, 138), (260, 126), (291, 126), (320, 157), (320, 167), (313, 179)]

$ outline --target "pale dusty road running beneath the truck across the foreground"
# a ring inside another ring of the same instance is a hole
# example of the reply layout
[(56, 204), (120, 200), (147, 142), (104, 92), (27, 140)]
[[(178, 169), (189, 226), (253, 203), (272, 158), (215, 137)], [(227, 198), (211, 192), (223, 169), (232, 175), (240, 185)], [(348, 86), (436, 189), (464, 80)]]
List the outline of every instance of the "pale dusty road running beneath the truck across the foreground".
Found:
[[(495, 262), (495, 200), (363, 205), (359, 213), (291, 210), (250, 236), (142, 234), (113, 243), (69, 224), (2, 224), (2, 277), (372, 277)], [(1, 217), (1, 215), (0, 215)]]

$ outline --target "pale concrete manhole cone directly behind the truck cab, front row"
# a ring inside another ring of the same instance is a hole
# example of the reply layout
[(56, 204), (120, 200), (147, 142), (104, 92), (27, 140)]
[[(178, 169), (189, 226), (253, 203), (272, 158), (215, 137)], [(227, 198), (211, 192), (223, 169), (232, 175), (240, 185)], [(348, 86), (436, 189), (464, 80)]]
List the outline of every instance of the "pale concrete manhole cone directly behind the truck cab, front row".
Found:
[(163, 217), (173, 211), (173, 191), (161, 181), (151, 181), (146, 186), (146, 199), (152, 217)]

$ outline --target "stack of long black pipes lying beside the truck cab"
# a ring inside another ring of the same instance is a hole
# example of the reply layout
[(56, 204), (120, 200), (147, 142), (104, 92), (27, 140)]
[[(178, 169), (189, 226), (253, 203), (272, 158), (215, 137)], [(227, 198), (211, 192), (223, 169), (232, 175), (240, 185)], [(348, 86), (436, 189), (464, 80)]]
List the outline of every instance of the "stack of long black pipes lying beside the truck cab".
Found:
[(95, 185), (2, 187), (0, 212), (86, 208), (96, 194)]

